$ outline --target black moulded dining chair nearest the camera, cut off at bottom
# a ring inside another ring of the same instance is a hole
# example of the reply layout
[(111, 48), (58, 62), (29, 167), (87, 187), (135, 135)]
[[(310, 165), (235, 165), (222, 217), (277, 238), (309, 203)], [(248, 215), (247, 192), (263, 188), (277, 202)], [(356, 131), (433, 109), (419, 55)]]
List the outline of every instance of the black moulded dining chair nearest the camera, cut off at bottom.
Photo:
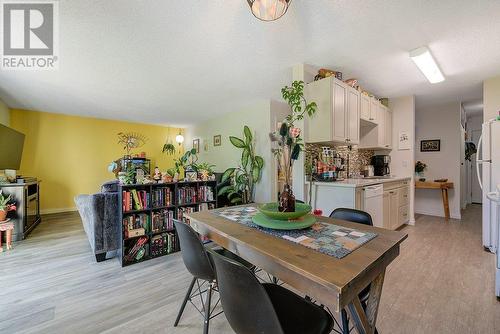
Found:
[(252, 271), (210, 251), (222, 308), (237, 334), (326, 334), (333, 318), (323, 308), (284, 287), (261, 284)]

